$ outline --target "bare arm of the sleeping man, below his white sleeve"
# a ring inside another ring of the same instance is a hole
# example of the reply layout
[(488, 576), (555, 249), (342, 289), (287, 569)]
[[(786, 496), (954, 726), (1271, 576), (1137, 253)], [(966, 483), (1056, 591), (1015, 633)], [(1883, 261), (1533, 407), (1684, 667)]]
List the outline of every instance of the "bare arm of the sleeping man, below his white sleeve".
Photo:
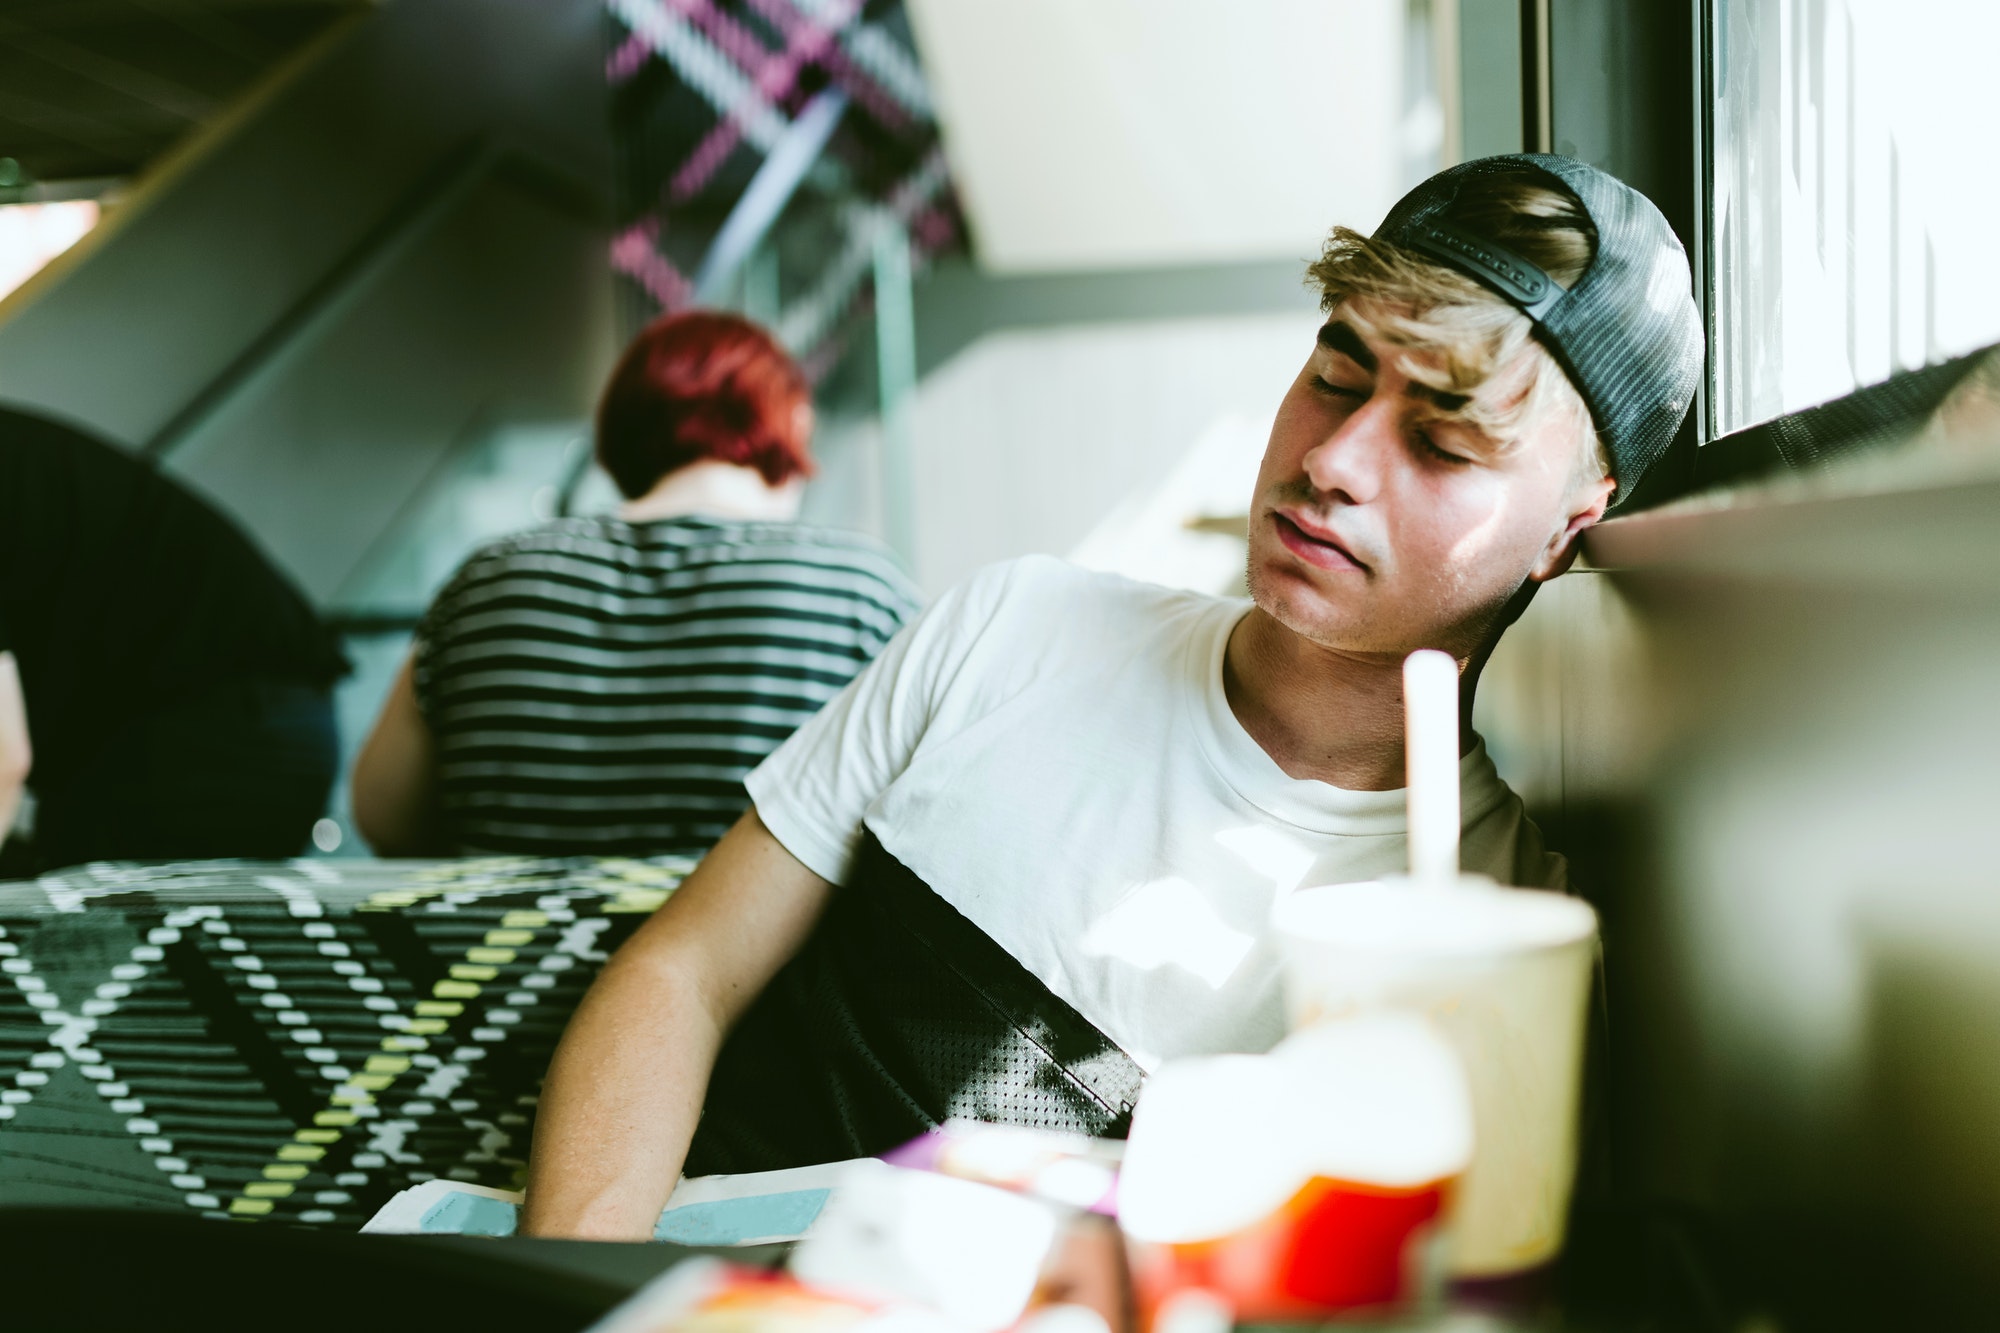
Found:
[(526, 1235), (652, 1237), (722, 1039), (806, 943), (830, 893), (752, 809), (626, 941), (550, 1063)]

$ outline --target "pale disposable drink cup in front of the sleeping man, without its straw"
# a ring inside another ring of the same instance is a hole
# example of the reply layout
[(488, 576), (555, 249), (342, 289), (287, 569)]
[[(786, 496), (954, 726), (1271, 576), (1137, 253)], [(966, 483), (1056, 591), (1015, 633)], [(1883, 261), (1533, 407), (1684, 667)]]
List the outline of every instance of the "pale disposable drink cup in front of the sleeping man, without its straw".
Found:
[(1464, 1061), (1472, 1167), (1452, 1221), (1452, 1275), (1552, 1261), (1576, 1179), (1596, 913), (1578, 899), (1462, 875), (1302, 889), (1274, 927), (1292, 1029), (1366, 1011), (1430, 1017)]

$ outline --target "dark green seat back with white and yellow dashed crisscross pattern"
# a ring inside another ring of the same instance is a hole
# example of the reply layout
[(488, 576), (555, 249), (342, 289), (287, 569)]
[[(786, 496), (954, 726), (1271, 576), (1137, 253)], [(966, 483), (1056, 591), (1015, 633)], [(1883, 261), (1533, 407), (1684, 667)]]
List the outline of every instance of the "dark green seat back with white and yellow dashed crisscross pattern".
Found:
[(358, 1227), (518, 1187), (536, 1089), (684, 861), (92, 865), (0, 885), (0, 1205)]

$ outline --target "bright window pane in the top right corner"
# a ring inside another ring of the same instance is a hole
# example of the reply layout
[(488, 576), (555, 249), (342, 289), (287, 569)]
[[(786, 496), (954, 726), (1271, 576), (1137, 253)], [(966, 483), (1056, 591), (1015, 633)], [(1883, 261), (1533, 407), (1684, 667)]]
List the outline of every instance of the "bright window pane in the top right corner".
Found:
[(1712, 0), (1716, 434), (2000, 340), (1992, 0)]

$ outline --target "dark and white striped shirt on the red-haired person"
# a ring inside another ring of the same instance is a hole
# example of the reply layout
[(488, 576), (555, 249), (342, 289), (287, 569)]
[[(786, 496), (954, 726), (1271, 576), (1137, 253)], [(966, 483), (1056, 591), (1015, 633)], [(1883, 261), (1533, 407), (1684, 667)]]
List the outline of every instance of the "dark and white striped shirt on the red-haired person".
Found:
[(700, 855), (744, 775), (918, 606), (880, 544), (792, 522), (566, 518), (478, 550), (416, 632), (464, 853)]

